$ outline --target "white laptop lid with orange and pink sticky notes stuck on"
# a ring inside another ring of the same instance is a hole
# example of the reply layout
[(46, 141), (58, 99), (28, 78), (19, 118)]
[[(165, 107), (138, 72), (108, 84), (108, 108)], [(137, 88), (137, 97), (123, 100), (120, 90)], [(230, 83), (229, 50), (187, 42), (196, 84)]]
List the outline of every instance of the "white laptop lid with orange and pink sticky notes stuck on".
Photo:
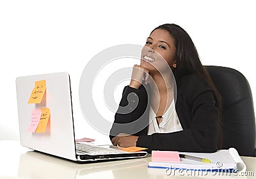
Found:
[(76, 161), (68, 73), (18, 77), (16, 90), (21, 145)]

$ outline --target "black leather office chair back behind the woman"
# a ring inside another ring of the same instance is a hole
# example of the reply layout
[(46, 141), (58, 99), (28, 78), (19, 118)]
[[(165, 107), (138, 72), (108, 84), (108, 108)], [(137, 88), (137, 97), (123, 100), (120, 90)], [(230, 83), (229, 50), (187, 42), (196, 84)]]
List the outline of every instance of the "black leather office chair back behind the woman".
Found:
[(243, 156), (256, 156), (255, 115), (250, 85), (237, 70), (205, 66), (222, 97), (223, 148), (234, 147)]

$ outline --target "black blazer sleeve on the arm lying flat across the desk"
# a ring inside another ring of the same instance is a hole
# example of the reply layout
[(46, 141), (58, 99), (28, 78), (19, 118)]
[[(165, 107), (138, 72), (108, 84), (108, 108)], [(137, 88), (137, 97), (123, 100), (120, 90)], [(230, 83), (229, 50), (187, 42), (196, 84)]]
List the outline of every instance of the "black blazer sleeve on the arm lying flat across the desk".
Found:
[(155, 133), (138, 138), (137, 146), (151, 150), (215, 152), (219, 134), (219, 110), (209, 85), (190, 75), (177, 85), (176, 110), (183, 131)]

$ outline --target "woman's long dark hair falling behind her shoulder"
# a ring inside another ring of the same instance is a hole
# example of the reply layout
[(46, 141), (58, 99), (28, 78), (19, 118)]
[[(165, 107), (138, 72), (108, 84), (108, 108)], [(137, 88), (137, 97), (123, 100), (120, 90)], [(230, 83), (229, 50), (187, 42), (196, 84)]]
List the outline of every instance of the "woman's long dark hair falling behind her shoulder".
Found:
[[(220, 93), (214, 86), (214, 83), (212, 82), (211, 76), (209, 75), (207, 69), (205, 68), (205, 66), (202, 65), (196, 47), (192, 39), (190, 38), (189, 34), (184, 29), (182, 29), (182, 27), (176, 24), (163, 24), (159, 27), (156, 27), (156, 29), (164, 29), (168, 31), (169, 34), (174, 39), (174, 45), (176, 48), (175, 59), (177, 63), (177, 68), (174, 71), (174, 75), (180, 78), (190, 73), (196, 73), (198, 76), (204, 79), (205, 82), (207, 82), (208, 85), (211, 87), (211, 89), (214, 92), (216, 103), (220, 111), (221, 126), (222, 99)], [(153, 31), (155, 31), (156, 29), (154, 29)], [(221, 143), (222, 132), (220, 127), (218, 148), (221, 148)]]

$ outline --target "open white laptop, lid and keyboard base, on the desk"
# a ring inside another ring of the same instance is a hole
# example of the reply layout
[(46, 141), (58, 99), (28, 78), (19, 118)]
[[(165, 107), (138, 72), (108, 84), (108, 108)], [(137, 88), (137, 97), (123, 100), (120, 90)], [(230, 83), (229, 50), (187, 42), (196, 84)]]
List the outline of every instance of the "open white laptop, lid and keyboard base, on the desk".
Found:
[[(45, 80), (46, 90), (40, 103), (28, 103), (35, 82)], [(76, 143), (68, 73), (22, 76), (16, 79), (20, 144), (33, 150), (77, 162), (109, 161), (145, 157), (147, 152), (125, 152), (106, 145)], [(90, 105), (90, 104), (88, 104)], [(51, 115), (44, 132), (29, 129), (32, 111), (48, 108)], [(86, 149), (88, 148), (88, 149)]]

